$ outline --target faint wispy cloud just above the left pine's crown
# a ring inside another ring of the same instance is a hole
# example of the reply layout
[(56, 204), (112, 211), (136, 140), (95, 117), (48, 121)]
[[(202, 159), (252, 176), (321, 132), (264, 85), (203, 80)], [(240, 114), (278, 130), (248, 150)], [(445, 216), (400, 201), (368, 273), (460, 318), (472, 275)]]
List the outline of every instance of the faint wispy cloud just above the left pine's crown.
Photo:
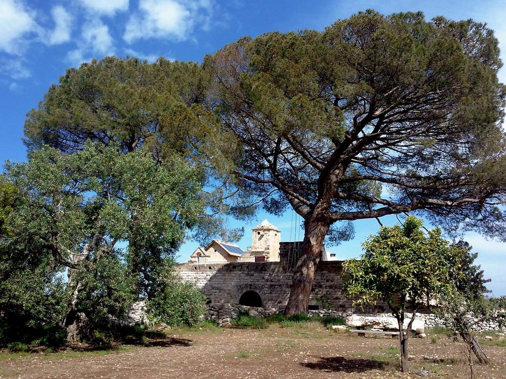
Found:
[(67, 54), (67, 60), (78, 66), (92, 58), (101, 59), (107, 55), (114, 55), (114, 40), (109, 33), (109, 27), (96, 19), (82, 25), (77, 49)]

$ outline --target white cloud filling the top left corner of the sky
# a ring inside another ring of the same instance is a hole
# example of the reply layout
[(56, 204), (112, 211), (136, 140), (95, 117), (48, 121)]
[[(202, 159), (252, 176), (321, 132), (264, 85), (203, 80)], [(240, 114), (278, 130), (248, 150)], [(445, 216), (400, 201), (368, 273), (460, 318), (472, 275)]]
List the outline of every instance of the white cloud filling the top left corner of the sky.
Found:
[(38, 29), (33, 16), (16, 0), (0, 0), (0, 51), (21, 54), (24, 38)]

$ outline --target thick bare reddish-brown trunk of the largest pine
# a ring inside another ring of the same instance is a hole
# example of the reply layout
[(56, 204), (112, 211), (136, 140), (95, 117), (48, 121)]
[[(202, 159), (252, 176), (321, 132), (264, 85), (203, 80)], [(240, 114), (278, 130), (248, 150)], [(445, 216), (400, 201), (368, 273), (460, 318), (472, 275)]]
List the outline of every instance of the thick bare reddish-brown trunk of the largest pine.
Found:
[(323, 240), (328, 229), (328, 223), (318, 221), (314, 217), (304, 223), (303, 252), (293, 271), (290, 297), (284, 310), (286, 317), (308, 311), (316, 265), (320, 261)]

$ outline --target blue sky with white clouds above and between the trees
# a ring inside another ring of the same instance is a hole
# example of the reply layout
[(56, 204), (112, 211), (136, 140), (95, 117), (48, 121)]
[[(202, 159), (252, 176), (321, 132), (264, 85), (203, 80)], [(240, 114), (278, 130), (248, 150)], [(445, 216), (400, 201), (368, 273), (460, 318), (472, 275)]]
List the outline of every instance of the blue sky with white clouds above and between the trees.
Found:
[[(26, 113), (37, 106), (49, 86), (58, 82), (65, 69), (107, 55), (137, 56), (153, 61), (167, 59), (201, 61), (224, 44), (244, 35), (300, 29), (322, 30), (339, 18), (360, 10), (382, 13), (423, 11), (427, 18), (443, 15), (458, 20), (473, 18), (496, 31), (506, 61), (506, 2), (490, 1), (245, 1), (231, 0), (0, 0), (0, 161), (22, 161)], [(499, 73), (506, 81), (506, 69)], [(265, 213), (258, 222), (244, 225), (239, 245), (251, 244), (250, 228), (267, 217), (282, 232), (283, 241), (302, 239), (291, 211), (281, 218)], [(393, 224), (395, 217), (385, 217)], [(239, 225), (231, 220), (231, 226)], [(360, 244), (377, 230), (376, 221), (355, 224), (353, 241), (327, 250), (340, 258), (358, 256)], [(296, 234), (297, 232), (297, 234)], [(291, 238), (290, 238), (291, 235)], [(505, 236), (506, 239), (506, 236)], [(487, 241), (476, 233), (466, 240), (479, 252), (478, 263), (492, 278), (494, 295), (506, 295), (506, 244)], [(188, 241), (181, 260), (197, 246)]]

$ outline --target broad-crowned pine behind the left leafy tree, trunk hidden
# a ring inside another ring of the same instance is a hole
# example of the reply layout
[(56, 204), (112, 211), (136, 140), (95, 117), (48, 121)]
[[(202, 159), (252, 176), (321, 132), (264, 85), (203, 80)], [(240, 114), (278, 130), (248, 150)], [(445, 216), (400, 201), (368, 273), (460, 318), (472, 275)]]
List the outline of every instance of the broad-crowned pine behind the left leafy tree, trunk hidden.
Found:
[(68, 69), (28, 113), (25, 143), (32, 150), (48, 145), (73, 153), (91, 140), (117, 144), (123, 153), (143, 148), (168, 165), (179, 156), (198, 170), (205, 187), (195, 237), (205, 244), (216, 235), (236, 240), (242, 229), (229, 230), (227, 215), (247, 212), (223, 175), (234, 138), (209, 112), (209, 85), (210, 73), (192, 62), (106, 57), (83, 63)]

